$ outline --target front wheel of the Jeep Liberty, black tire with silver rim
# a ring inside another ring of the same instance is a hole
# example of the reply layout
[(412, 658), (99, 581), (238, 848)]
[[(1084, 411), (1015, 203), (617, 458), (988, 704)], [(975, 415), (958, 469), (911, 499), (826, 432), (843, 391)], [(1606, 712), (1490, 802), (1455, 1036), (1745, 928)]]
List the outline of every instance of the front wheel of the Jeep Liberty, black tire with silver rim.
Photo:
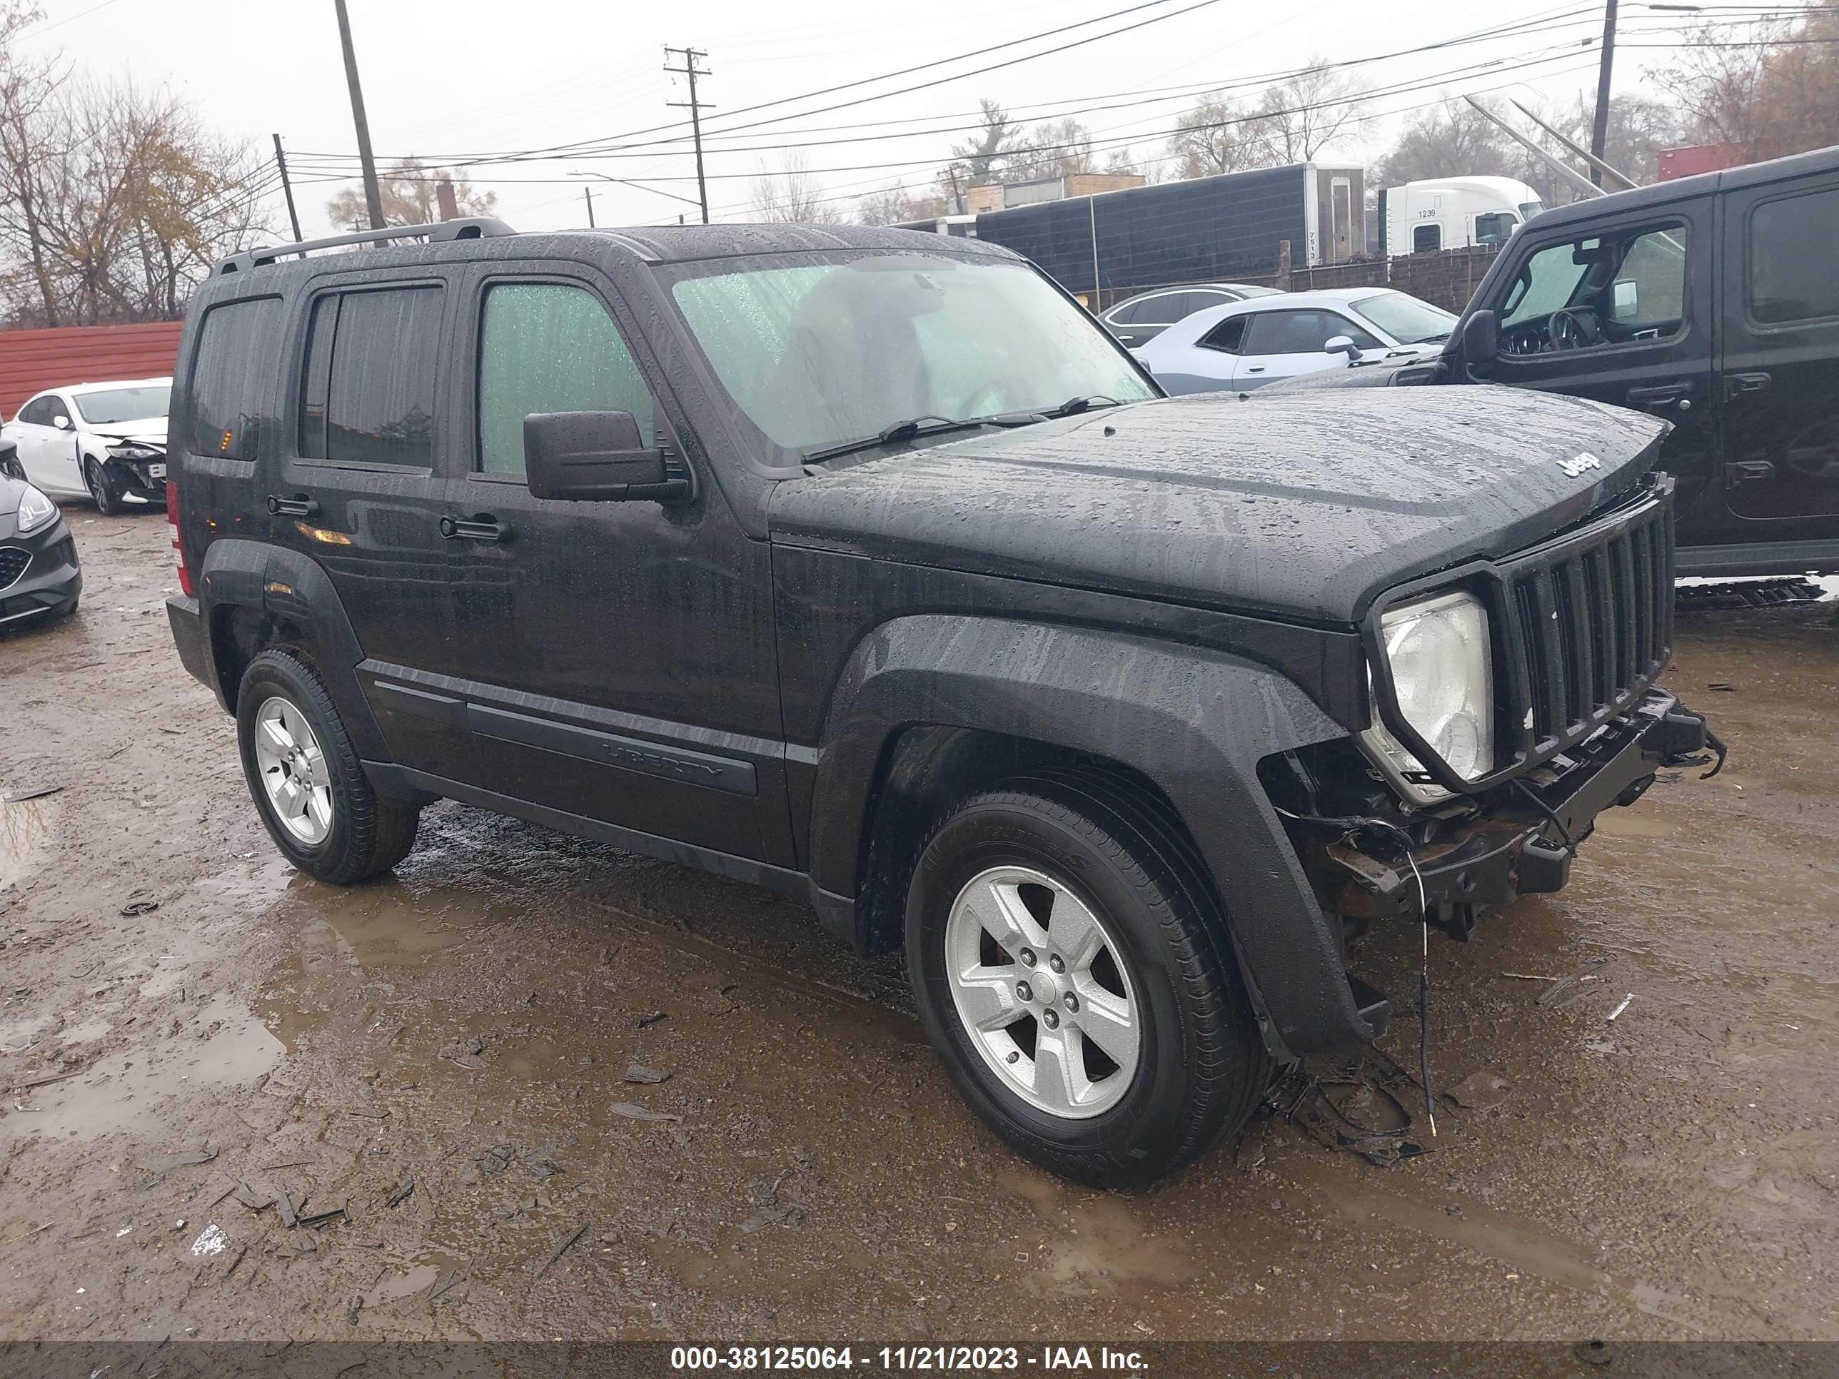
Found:
[(958, 805), (907, 895), (920, 1017), (1013, 1149), (1094, 1188), (1206, 1153), (1271, 1057), (1192, 849), (1159, 811), (1041, 774)]

